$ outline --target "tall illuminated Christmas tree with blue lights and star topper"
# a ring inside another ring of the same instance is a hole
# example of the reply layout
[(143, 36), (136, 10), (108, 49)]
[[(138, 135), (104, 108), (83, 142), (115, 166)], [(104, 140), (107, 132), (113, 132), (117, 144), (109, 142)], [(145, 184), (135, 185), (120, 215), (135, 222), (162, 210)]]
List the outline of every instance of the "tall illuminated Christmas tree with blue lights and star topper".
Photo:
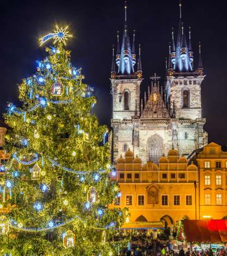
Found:
[(22, 106), (8, 105), (11, 127), (5, 150), (11, 155), (1, 180), (0, 255), (117, 255), (113, 240), (127, 211), (108, 209), (119, 187), (109, 164), (107, 127), (91, 114), (96, 99), (70, 62), (57, 28), (44, 36), (47, 57), (22, 81)]

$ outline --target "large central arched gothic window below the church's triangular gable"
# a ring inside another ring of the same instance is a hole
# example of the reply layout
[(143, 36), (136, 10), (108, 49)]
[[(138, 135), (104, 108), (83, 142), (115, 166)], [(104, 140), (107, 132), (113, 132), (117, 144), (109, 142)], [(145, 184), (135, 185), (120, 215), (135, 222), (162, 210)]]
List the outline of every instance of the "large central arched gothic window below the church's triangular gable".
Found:
[(148, 139), (147, 154), (148, 160), (158, 163), (163, 154), (163, 139), (161, 136), (155, 134)]

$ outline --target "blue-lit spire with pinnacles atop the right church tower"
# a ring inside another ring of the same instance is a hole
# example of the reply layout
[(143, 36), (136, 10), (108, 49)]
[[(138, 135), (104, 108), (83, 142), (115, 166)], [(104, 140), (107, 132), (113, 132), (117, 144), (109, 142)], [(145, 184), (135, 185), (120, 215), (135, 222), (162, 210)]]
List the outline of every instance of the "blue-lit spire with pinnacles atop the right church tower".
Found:
[[(168, 76), (172, 76), (173, 72), (176, 73), (191, 73), (199, 72), (203, 75), (203, 65), (198, 63), (197, 69), (194, 69), (194, 56), (192, 50), (191, 41), (191, 27), (188, 31), (188, 41), (186, 38), (185, 27), (182, 19), (182, 3), (180, 0), (180, 21), (177, 33), (176, 44), (174, 40), (174, 29), (171, 32), (171, 47), (169, 51), (169, 62), (168, 62)], [(199, 59), (201, 59), (201, 51), (199, 52)], [(199, 67), (201, 66), (201, 67)]]

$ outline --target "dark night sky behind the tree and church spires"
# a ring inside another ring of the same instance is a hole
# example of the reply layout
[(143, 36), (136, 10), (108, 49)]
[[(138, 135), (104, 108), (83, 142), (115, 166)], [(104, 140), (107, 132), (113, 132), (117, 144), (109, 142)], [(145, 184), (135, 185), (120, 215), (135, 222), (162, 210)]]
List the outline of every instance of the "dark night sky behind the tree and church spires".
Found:
[[(100, 123), (109, 125), (112, 45), (116, 44), (116, 31), (120, 31), (122, 38), (124, 1), (5, 1), (0, 13), (0, 112), (5, 111), (7, 101), (17, 104), (17, 84), (35, 72), (35, 60), (46, 56), (38, 38), (52, 32), (57, 23), (70, 26), (74, 35), (68, 43), (72, 63), (83, 68), (85, 82), (95, 89)], [(195, 57), (201, 41), (207, 75), (202, 83), (203, 117), (207, 119), (204, 128), (209, 142), (226, 145), (226, 8), (217, 1), (183, 0), (182, 16), (185, 28), (192, 27)], [(131, 34), (136, 29), (137, 45), (142, 45), (143, 93), (154, 72), (164, 81), (171, 27), (177, 32), (179, 24), (179, 1), (131, 0), (127, 18)]]

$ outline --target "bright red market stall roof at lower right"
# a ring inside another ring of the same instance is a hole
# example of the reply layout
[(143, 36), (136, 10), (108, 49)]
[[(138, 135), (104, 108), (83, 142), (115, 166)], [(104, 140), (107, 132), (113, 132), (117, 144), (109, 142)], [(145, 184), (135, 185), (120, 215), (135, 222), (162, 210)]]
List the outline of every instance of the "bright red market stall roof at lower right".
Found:
[(187, 242), (227, 242), (227, 220), (183, 220)]

